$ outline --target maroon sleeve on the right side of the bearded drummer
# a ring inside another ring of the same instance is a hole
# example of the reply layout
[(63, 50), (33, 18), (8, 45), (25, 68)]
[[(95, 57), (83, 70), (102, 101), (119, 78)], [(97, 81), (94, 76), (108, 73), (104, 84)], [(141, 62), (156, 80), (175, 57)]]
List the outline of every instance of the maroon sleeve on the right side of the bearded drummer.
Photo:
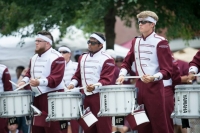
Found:
[(53, 61), (51, 65), (51, 73), (47, 77), (48, 80), (48, 87), (55, 88), (57, 87), (64, 76), (65, 71), (65, 60), (63, 57), (59, 57), (56, 60)]

